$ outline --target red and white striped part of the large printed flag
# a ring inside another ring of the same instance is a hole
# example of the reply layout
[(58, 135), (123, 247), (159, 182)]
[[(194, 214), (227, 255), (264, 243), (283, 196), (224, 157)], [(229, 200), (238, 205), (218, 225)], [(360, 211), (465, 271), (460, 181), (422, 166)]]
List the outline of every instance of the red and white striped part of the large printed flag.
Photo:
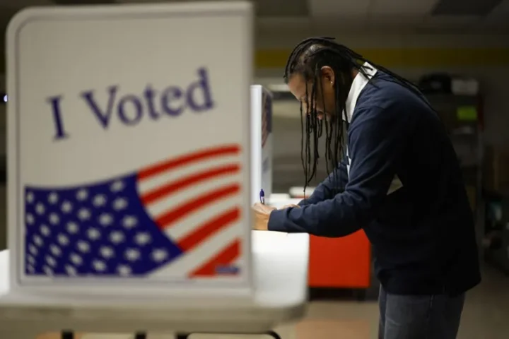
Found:
[(206, 278), (238, 260), (240, 182), (238, 145), (198, 150), (139, 172), (148, 215), (185, 252), (155, 275)]

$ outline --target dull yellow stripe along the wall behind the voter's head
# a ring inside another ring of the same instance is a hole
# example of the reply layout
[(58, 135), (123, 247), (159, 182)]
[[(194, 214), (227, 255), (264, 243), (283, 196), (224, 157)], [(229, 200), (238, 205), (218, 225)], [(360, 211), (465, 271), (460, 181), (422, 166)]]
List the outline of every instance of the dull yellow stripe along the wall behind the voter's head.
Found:
[[(386, 67), (509, 66), (509, 48), (355, 49), (366, 59)], [(257, 69), (281, 69), (291, 49), (259, 50)]]

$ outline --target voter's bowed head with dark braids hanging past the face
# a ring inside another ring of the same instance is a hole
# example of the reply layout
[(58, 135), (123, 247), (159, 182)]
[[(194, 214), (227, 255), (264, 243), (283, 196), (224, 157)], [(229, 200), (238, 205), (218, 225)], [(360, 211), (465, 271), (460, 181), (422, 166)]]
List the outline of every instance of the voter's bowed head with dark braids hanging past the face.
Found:
[(361, 55), (329, 37), (303, 40), (288, 57), (283, 77), (300, 102), (301, 119), (305, 119), (302, 150), (305, 185), (316, 173), (323, 126), (327, 170), (329, 165), (334, 168), (341, 160), (344, 153), (342, 114), (353, 78), (359, 72), (365, 74), (362, 61)]

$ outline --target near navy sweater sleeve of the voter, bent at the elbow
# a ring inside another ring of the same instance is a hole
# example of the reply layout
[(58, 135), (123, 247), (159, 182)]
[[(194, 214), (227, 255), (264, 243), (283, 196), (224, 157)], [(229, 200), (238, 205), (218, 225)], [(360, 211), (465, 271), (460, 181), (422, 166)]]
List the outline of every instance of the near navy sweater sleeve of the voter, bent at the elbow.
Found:
[(274, 210), (269, 230), (343, 237), (368, 225), (385, 200), (411, 126), (396, 109), (356, 109), (349, 131), (350, 172), (345, 191), (302, 208)]

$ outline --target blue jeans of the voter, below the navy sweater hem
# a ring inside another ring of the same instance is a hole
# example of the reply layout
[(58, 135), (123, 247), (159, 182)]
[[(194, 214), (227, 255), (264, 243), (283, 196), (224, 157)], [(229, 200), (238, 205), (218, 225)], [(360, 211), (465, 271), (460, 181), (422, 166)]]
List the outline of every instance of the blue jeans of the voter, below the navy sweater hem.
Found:
[(464, 293), (448, 295), (393, 295), (380, 287), (379, 339), (455, 339)]

